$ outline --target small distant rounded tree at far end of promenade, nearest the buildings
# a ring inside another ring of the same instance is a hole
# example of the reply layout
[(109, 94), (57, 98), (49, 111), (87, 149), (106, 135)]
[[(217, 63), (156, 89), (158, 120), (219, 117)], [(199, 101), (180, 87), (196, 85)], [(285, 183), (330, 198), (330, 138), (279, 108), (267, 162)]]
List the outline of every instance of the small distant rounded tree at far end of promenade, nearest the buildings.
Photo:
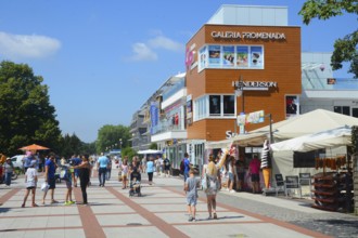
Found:
[[(97, 151), (103, 153), (115, 148), (126, 148), (129, 146), (129, 127), (122, 124), (105, 124), (99, 130), (98, 140), (95, 142)], [(119, 143), (122, 140), (122, 144)]]

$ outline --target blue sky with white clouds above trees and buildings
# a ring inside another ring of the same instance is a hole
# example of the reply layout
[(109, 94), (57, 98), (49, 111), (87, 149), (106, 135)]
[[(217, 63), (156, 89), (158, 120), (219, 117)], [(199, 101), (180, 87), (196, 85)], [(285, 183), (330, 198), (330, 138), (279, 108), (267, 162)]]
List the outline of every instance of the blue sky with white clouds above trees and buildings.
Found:
[[(303, 24), (304, 0), (1, 0), (0, 61), (28, 64), (49, 87), (63, 134), (94, 142), (105, 124), (132, 115), (171, 76), (184, 72), (184, 45), (222, 4), (289, 8), (303, 52), (332, 52), (357, 16)], [(347, 69), (335, 77), (353, 78)]]

